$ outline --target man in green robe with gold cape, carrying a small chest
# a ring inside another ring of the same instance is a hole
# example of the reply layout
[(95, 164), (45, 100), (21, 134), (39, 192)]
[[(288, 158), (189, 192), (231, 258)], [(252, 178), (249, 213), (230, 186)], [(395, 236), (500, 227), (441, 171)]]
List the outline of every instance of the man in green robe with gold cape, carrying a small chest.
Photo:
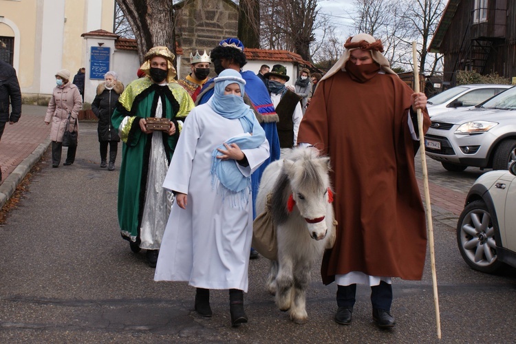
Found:
[[(133, 252), (147, 250), (151, 268), (158, 260), (173, 201), (173, 195), (162, 184), (178, 142), (180, 119), (194, 106), (189, 94), (174, 80), (173, 58), (167, 47), (149, 50), (140, 67), (146, 77), (127, 85), (111, 118), (124, 142), (118, 223), (122, 238), (129, 241)], [(153, 117), (168, 119), (166, 128), (148, 128), (147, 118)]]

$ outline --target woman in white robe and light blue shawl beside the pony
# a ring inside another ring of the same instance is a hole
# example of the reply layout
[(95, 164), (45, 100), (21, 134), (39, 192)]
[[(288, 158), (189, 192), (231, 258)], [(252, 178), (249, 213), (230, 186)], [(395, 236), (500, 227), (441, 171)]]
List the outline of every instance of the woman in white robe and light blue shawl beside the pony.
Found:
[(250, 175), (269, 156), (265, 133), (244, 104), (244, 85), (238, 72), (224, 70), (215, 78), (213, 98), (184, 122), (163, 184), (176, 204), (154, 277), (196, 287), (195, 310), (202, 316), (212, 314), (209, 289), (229, 289), (233, 325), (247, 322)]

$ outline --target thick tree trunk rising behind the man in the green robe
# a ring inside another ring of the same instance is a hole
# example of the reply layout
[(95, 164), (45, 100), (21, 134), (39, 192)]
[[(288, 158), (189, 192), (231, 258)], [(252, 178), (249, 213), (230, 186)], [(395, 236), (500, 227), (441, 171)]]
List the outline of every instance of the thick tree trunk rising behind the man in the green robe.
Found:
[(138, 58), (158, 45), (175, 54), (175, 30), (172, 0), (116, 0), (124, 12), (138, 45)]

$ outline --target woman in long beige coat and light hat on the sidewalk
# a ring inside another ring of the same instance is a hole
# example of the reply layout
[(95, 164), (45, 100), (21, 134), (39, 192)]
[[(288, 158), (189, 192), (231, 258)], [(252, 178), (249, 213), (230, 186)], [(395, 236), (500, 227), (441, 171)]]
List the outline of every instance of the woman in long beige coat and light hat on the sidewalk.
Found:
[[(67, 121), (69, 118), (69, 131), (78, 133), (78, 114), (83, 107), (83, 98), (80, 96), (79, 89), (76, 85), (70, 83), (70, 72), (67, 69), (61, 69), (56, 73), (56, 84), (52, 92), (52, 98), (48, 103), (47, 115), (45, 123), (50, 124), (52, 120), (52, 129), (50, 130), (50, 139), (52, 140), (52, 167), (58, 167), (61, 162), (61, 151), (63, 149), (63, 134), (65, 133)], [(66, 161), (64, 166), (69, 166), (75, 161), (75, 153), (77, 146), (68, 147)]]

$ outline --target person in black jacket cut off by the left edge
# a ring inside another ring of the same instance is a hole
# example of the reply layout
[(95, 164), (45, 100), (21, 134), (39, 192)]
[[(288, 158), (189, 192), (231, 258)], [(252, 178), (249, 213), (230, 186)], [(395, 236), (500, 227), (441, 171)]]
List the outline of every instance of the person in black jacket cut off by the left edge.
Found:
[[(11, 114), (9, 115), (9, 105)], [(21, 92), (16, 70), (3, 61), (0, 61), (0, 140), (6, 122), (10, 125), (18, 122), (21, 116)], [(0, 169), (0, 180), (2, 180), (2, 170)]]

